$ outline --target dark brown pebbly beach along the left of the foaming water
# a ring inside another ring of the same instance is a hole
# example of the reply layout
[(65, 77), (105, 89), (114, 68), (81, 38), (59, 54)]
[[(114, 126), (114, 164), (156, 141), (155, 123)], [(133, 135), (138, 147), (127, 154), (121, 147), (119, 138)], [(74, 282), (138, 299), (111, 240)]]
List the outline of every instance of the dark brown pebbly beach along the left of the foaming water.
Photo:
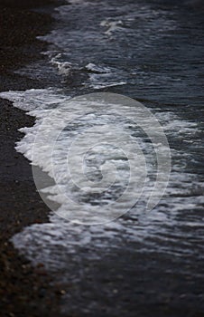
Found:
[[(31, 80), (14, 73), (29, 62), (45, 59), (41, 53), (47, 43), (37, 40), (36, 36), (49, 32), (53, 18), (49, 14), (31, 10), (38, 5), (53, 8), (56, 2), (1, 2), (0, 91), (46, 86), (40, 80)], [(52, 278), (43, 265), (32, 267), (9, 241), (25, 226), (49, 221), (50, 210), (36, 192), (31, 165), (14, 149), (15, 142), (23, 137), (18, 129), (32, 126), (34, 118), (26, 115), (23, 110), (14, 108), (10, 101), (0, 99), (0, 107), (0, 316), (60, 316), (57, 309), (60, 301), (59, 286), (51, 286)]]

